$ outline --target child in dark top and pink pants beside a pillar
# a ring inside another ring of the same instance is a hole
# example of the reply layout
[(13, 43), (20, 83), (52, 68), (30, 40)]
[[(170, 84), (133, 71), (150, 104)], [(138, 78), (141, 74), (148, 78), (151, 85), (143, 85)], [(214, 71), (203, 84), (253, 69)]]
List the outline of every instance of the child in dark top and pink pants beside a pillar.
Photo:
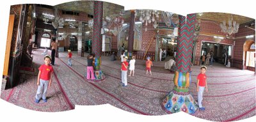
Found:
[(92, 64), (94, 63), (93, 61), (93, 55), (92, 54), (89, 54), (87, 56), (87, 76), (86, 76), (86, 79), (89, 80), (90, 78), (92, 80), (95, 79), (94, 77), (94, 73), (93, 73), (93, 66)]

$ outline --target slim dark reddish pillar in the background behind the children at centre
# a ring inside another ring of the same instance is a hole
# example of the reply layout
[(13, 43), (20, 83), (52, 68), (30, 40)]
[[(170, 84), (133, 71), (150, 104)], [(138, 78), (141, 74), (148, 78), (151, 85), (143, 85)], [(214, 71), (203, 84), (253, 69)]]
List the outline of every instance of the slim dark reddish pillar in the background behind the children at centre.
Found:
[(128, 38), (128, 57), (131, 59), (132, 56), (132, 49), (133, 49), (133, 42), (134, 42), (134, 22), (135, 20), (135, 12), (131, 10), (131, 21), (129, 27), (129, 38)]

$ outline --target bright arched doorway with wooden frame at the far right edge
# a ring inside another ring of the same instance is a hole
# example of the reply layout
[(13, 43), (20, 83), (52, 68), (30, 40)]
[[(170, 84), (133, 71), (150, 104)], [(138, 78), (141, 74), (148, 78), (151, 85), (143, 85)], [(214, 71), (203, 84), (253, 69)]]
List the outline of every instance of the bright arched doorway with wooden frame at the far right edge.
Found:
[(255, 42), (246, 40), (243, 46), (243, 69), (255, 71)]

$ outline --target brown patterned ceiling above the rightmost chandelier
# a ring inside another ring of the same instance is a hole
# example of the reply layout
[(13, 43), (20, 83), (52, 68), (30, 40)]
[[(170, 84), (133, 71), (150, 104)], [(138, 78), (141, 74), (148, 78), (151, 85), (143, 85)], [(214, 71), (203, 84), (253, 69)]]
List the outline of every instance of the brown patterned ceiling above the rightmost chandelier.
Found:
[(236, 20), (239, 24), (244, 24), (246, 22), (251, 22), (254, 19), (249, 17), (244, 17), (241, 15), (234, 15), (230, 13), (217, 13), (217, 12), (205, 12), (205, 13), (196, 13), (196, 17), (198, 19), (204, 19), (204, 20), (211, 20), (215, 22), (223, 22), (225, 20), (226, 22), (228, 19), (231, 18), (231, 15), (233, 17), (233, 20)]

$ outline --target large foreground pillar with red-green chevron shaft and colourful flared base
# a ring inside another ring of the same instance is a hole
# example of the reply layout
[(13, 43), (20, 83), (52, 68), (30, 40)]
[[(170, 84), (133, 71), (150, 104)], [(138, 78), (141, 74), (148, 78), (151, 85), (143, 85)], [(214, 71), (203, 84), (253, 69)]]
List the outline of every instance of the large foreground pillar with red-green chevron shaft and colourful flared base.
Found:
[(189, 114), (195, 114), (198, 109), (198, 104), (195, 102), (191, 93), (189, 93), (195, 18), (195, 13), (189, 14), (186, 22), (186, 18), (179, 15), (176, 72), (173, 78), (174, 88), (162, 102), (163, 108), (169, 113), (183, 111)]

